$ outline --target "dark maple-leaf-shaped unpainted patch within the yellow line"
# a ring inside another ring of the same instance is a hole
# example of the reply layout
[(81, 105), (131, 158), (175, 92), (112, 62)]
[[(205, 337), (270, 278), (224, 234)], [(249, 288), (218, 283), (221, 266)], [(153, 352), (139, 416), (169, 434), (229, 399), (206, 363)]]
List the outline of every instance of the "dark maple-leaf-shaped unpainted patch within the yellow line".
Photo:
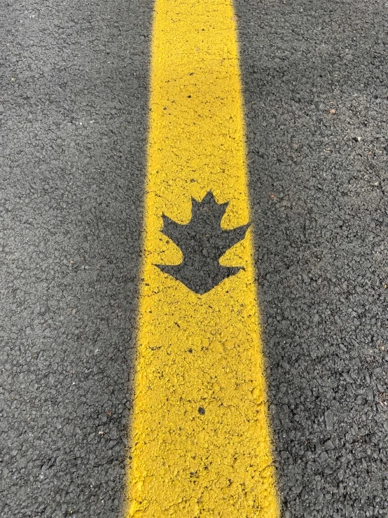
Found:
[(228, 203), (217, 203), (212, 191), (202, 201), (191, 198), (191, 219), (186, 225), (162, 214), (162, 233), (174, 241), (183, 253), (181, 264), (155, 264), (160, 270), (182, 282), (200, 295), (209, 292), (222, 280), (235, 275), (243, 266), (221, 266), (219, 259), (233, 245), (244, 239), (247, 225), (236, 229), (221, 228)]

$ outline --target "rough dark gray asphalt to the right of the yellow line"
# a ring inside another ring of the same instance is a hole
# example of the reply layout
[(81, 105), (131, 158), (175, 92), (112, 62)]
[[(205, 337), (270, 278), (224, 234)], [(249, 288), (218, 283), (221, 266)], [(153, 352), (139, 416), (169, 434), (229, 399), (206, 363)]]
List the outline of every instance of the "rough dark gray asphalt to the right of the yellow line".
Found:
[(386, 517), (388, 4), (237, 13), (284, 515)]

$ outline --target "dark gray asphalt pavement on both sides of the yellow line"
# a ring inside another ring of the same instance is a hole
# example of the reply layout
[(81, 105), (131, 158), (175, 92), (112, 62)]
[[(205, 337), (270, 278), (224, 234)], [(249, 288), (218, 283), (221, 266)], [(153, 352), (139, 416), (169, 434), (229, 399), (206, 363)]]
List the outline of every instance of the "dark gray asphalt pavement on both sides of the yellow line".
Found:
[[(238, 0), (284, 518), (388, 517), (388, 4)], [(113, 518), (150, 0), (4, 0), (0, 516)]]

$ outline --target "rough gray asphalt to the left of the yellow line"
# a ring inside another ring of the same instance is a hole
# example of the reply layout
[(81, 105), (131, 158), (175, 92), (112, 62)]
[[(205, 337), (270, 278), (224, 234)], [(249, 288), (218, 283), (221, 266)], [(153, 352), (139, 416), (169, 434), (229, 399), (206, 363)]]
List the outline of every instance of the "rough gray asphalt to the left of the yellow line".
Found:
[(0, 516), (118, 517), (151, 3), (2, 5)]

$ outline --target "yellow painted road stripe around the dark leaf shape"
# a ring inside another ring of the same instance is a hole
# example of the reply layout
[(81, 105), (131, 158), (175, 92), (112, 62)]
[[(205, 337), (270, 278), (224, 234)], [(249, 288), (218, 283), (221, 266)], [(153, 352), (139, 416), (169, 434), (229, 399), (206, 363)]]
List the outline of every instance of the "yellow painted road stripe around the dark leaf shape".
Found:
[(181, 263), (162, 214), (188, 224), (192, 196), (230, 201), (224, 229), (249, 221), (230, 0), (155, 1), (150, 108), (125, 515), (275, 518), (252, 229), (220, 261), (245, 270), (203, 295), (154, 266)]

